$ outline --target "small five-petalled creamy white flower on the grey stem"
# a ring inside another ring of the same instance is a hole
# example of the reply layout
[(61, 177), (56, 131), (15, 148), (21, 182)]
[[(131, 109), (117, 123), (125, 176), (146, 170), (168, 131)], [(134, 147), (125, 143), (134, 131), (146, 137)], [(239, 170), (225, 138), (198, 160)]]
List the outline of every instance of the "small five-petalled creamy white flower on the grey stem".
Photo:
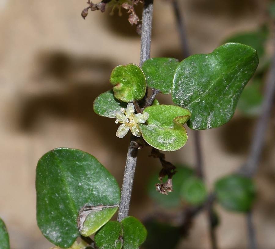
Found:
[(129, 130), (136, 137), (141, 137), (141, 132), (138, 128), (138, 123), (145, 123), (149, 117), (148, 112), (134, 114), (135, 108), (133, 103), (128, 103), (126, 110), (121, 108), (116, 112), (116, 124), (122, 123), (117, 129), (116, 136), (123, 138)]

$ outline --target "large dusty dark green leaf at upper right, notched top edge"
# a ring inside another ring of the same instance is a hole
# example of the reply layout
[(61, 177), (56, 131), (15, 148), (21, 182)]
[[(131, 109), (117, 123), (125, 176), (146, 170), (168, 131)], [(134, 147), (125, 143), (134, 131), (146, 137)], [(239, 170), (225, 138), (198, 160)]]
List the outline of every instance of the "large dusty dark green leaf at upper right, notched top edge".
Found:
[(204, 130), (228, 122), (258, 62), (255, 49), (239, 43), (183, 60), (174, 75), (172, 99), (191, 111), (188, 126)]

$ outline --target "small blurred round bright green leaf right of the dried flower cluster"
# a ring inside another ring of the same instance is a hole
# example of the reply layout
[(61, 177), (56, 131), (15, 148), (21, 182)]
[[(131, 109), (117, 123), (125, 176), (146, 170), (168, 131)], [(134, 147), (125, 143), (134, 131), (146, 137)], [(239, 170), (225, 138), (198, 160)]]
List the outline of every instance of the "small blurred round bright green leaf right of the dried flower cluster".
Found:
[(207, 198), (207, 190), (201, 179), (189, 177), (182, 184), (181, 195), (187, 203), (200, 205)]

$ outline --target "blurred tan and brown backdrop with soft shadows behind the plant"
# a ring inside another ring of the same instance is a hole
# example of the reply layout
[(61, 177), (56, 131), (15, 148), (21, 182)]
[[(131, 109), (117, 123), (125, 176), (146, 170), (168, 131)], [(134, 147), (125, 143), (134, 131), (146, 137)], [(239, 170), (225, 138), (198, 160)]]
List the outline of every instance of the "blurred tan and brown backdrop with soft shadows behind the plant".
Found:
[[(229, 35), (258, 28), (267, 2), (180, 1), (191, 52), (210, 53)], [(114, 120), (94, 114), (92, 105), (111, 88), (108, 79), (115, 66), (139, 64), (140, 38), (125, 11), (123, 17), (89, 12), (83, 20), (80, 12), (86, 7), (86, 0), (0, 0), (0, 217), (9, 230), (12, 249), (51, 247), (35, 219), (35, 167), (50, 149), (89, 152), (122, 183), (129, 137), (117, 138)], [(155, 0), (151, 48), (151, 57), (182, 59), (169, 1)], [(201, 132), (210, 190), (217, 177), (245, 162), (253, 124), (254, 120), (236, 113), (223, 127)], [(275, 247), (274, 124), (273, 115), (256, 177), (254, 223), (259, 248), (265, 249)], [(195, 163), (192, 131), (188, 133), (185, 147), (166, 153), (167, 160)], [(131, 202), (130, 214), (139, 219), (156, 209), (144, 183), (160, 164), (147, 158), (149, 152), (149, 148), (139, 152)], [(244, 216), (219, 206), (217, 210), (219, 248), (247, 248)], [(207, 227), (202, 213), (178, 248), (210, 248)]]

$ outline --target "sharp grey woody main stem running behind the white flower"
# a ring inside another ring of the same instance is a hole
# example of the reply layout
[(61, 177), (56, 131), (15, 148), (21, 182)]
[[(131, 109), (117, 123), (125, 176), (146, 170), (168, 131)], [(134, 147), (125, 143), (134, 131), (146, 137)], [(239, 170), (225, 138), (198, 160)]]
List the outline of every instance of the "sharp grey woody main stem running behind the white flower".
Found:
[[(145, 0), (142, 12), (140, 66), (150, 57), (152, 13), (153, 0)], [(131, 135), (130, 144), (133, 141), (134, 136)], [(129, 213), (134, 173), (137, 164), (137, 154), (138, 148), (133, 148), (129, 145), (121, 189), (120, 205), (117, 217), (118, 221), (121, 221), (127, 217)]]

